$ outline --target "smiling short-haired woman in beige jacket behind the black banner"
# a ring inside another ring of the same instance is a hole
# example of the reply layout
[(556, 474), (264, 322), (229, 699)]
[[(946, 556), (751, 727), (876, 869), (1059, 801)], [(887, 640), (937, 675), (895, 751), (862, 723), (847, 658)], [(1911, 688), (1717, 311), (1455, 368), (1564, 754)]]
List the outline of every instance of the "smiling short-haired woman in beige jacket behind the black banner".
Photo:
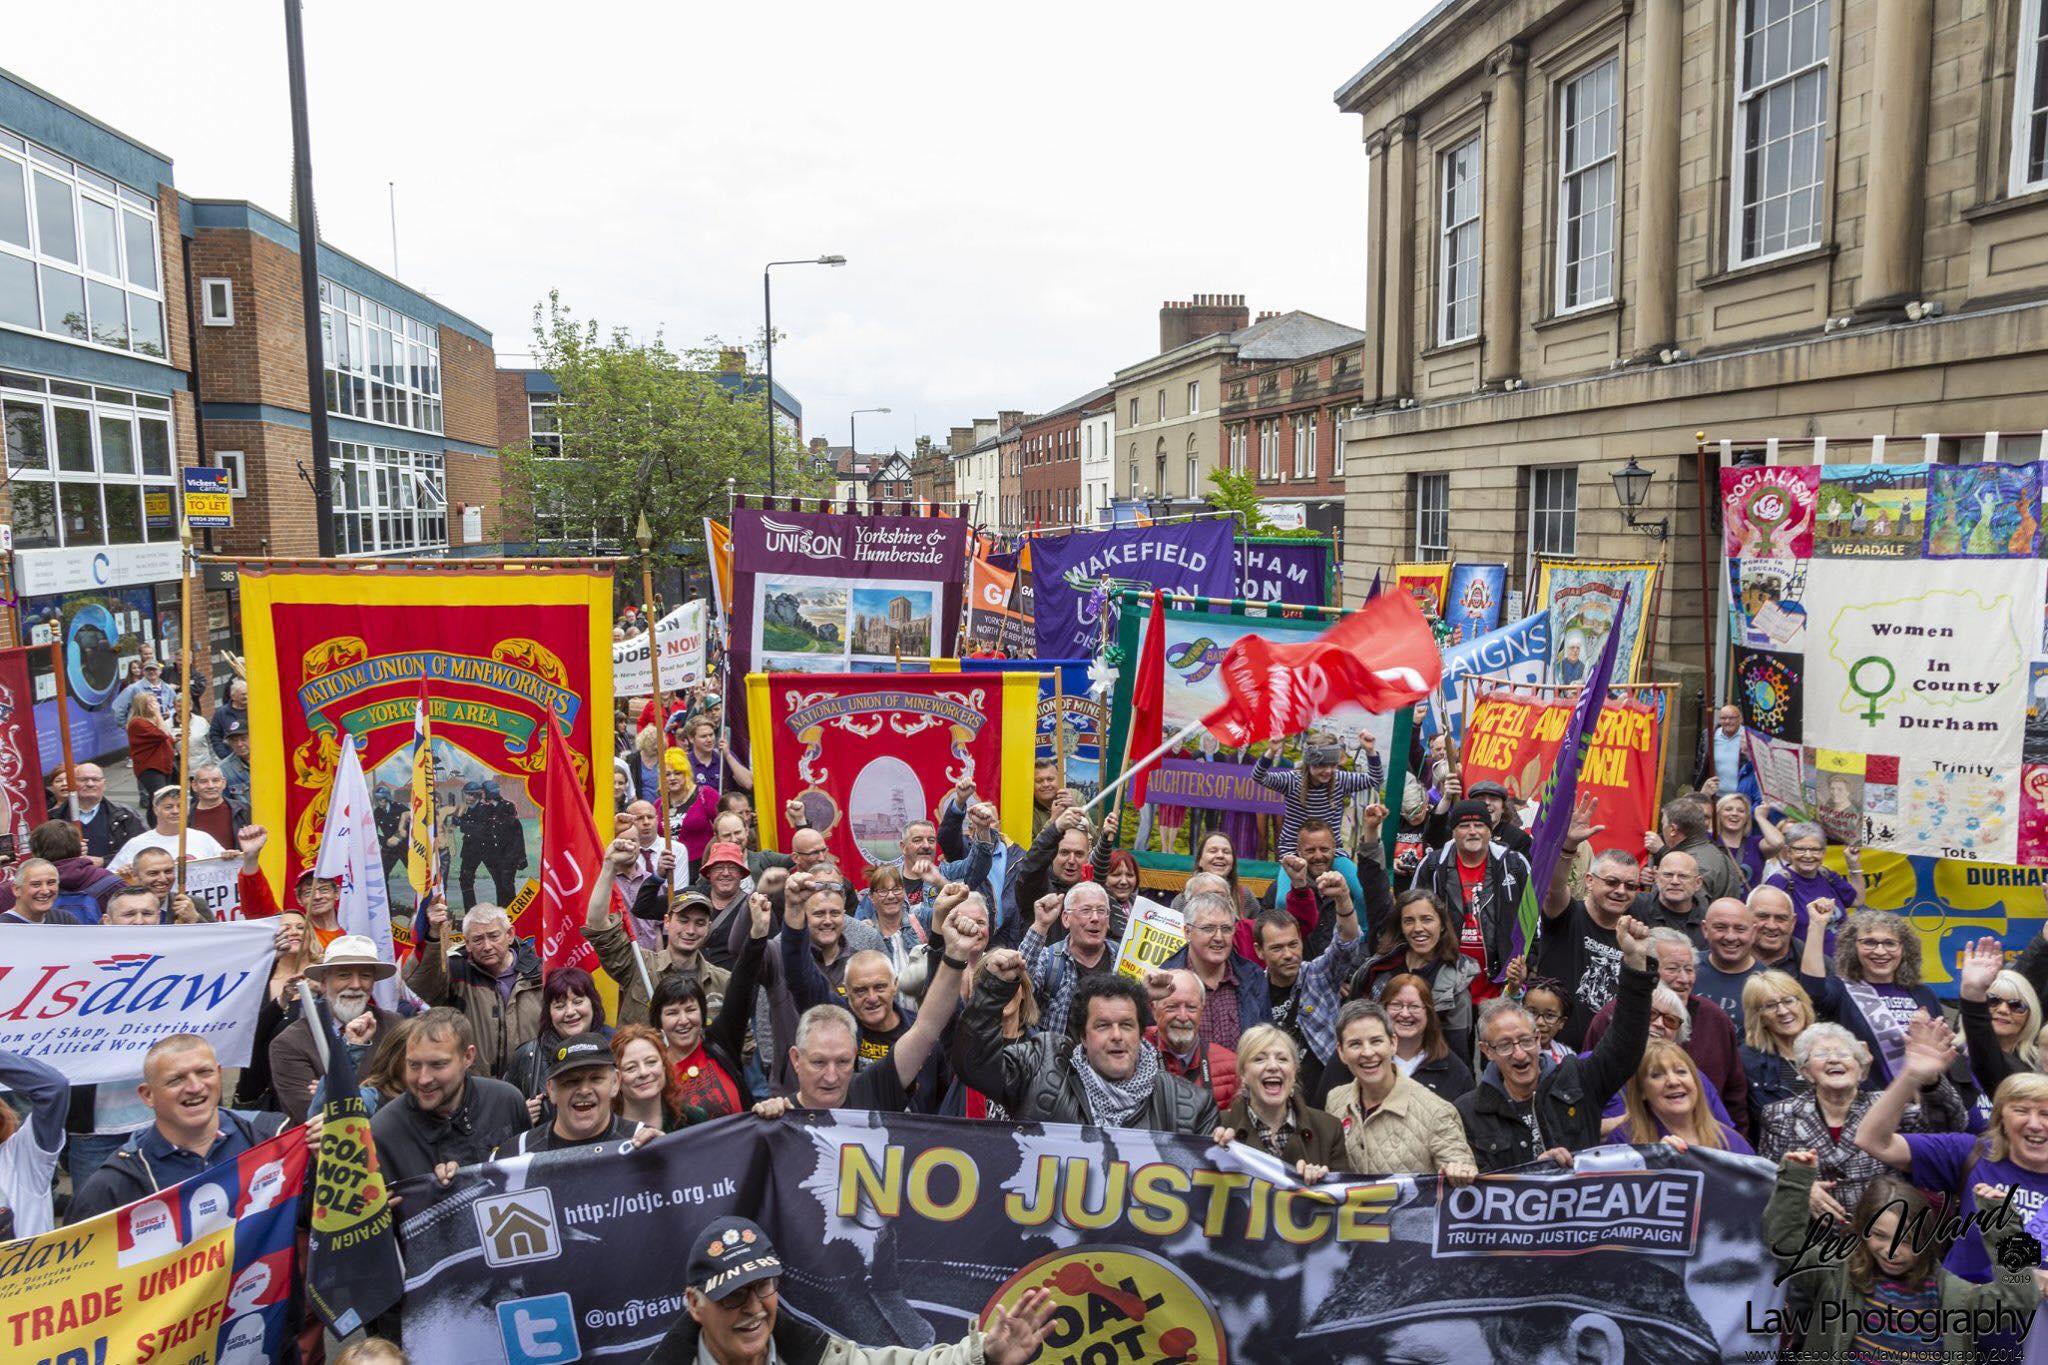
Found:
[(1360, 1175), (1442, 1175), (1468, 1185), (1479, 1175), (1458, 1111), (1395, 1064), (1395, 1029), (1374, 1001), (1352, 1001), (1337, 1015), (1337, 1056), (1350, 1085), (1329, 1093), (1325, 1109), (1343, 1124), (1343, 1150)]

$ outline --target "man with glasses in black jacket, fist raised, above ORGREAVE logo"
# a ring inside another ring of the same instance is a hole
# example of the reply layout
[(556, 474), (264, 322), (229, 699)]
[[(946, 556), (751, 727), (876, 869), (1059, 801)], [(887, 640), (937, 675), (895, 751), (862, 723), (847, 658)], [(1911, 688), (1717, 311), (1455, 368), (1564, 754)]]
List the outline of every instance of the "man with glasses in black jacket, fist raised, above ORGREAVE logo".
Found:
[(1622, 984), (1614, 1025), (1585, 1056), (1552, 1062), (1520, 1001), (1501, 997), (1479, 1011), (1479, 1050), (1489, 1058), (1479, 1085), (1458, 1097), (1458, 1117), (1481, 1171), (1532, 1160), (1569, 1164), (1571, 1154), (1602, 1142), (1599, 1115), (1628, 1085), (1651, 1036), (1651, 931), (1636, 919), (1616, 925)]

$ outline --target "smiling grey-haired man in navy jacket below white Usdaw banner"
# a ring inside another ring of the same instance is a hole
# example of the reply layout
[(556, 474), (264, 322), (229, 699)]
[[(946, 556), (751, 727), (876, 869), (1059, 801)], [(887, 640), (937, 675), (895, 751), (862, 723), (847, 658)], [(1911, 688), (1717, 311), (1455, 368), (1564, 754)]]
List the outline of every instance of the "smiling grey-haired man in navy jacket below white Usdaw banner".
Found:
[(283, 1113), (242, 1117), (221, 1109), (221, 1062), (213, 1044), (197, 1033), (172, 1033), (156, 1042), (143, 1056), (137, 1093), (156, 1121), (86, 1177), (63, 1216), (66, 1224), (133, 1203), (233, 1160), (274, 1138), (287, 1124)]

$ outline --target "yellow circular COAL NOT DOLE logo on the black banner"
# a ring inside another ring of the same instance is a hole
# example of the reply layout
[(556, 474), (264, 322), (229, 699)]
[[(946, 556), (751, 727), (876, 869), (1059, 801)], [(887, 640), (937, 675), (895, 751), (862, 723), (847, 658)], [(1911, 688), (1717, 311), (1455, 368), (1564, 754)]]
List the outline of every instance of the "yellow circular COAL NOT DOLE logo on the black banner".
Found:
[(1090, 1365), (1225, 1365), (1223, 1324), (1171, 1263), (1128, 1246), (1075, 1246), (1012, 1275), (981, 1310), (1014, 1310), (1028, 1289), (1053, 1295), (1044, 1359)]

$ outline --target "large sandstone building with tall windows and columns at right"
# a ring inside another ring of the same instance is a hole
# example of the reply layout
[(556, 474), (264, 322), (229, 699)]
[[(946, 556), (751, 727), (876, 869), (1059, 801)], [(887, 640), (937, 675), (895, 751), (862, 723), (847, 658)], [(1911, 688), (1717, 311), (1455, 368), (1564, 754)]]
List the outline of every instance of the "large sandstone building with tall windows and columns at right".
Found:
[[(1432, 8), (1337, 92), (1370, 174), (1350, 596), (1397, 559), (1526, 587), (1538, 553), (1663, 555), (1651, 671), (1698, 686), (1720, 440), (2038, 458), (2042, 23), (2042, 0)], [(1614, 491), (1630, 458), (1649, 530)]]

